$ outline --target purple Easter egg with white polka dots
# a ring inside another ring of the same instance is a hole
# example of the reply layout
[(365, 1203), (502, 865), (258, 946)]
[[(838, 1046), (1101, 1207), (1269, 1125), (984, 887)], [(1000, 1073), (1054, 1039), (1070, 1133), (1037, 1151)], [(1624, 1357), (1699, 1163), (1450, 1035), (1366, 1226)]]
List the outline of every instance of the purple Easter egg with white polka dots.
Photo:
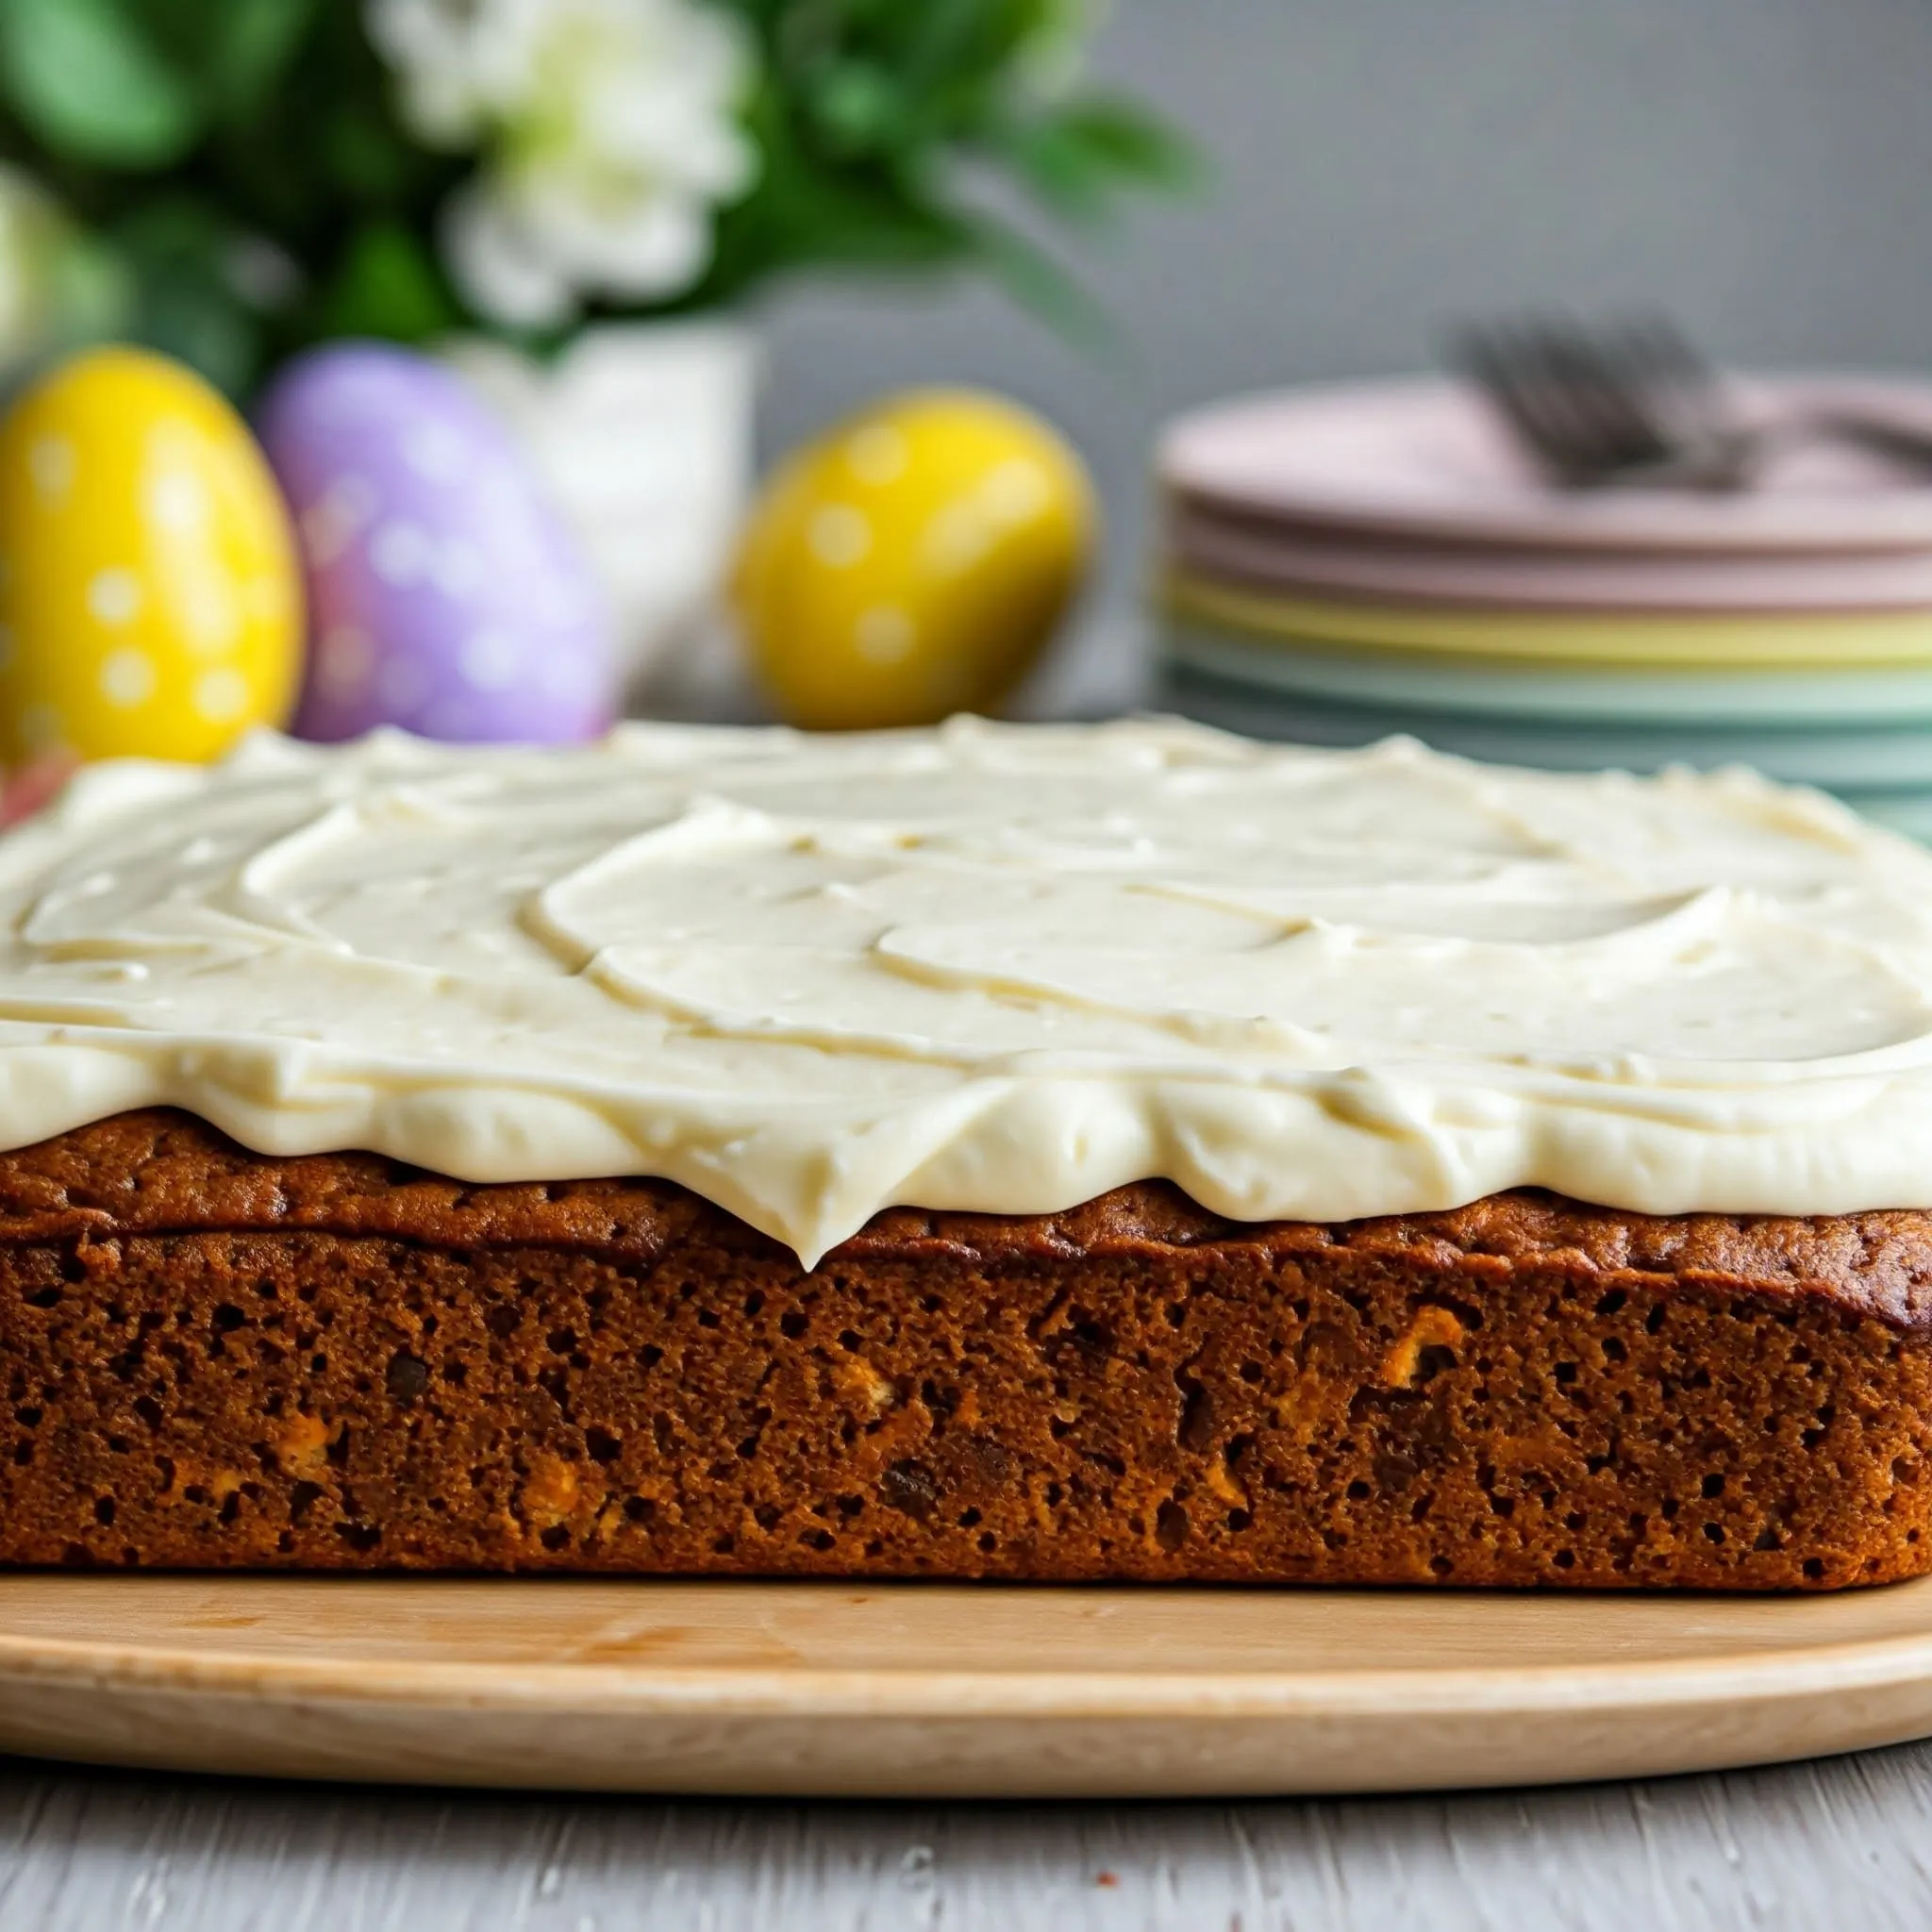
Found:
[(377, 724), (576, 744), (611, 723), (611, 622), (510, 431), (458, 375), (379, 342), (290, 363), (259, 431), (309, 587), (298, 738)]

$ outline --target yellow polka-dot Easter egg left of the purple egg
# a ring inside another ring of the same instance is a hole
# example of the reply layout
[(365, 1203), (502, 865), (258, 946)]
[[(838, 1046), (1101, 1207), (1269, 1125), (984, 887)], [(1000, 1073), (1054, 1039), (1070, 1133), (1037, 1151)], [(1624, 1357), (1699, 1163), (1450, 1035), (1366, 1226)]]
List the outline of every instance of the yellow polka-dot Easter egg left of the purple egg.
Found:
[(242, 419), (145, 350), (75, 355), (0, 423), (0, 761), (209, 759), (282, 724), (288, 512)]

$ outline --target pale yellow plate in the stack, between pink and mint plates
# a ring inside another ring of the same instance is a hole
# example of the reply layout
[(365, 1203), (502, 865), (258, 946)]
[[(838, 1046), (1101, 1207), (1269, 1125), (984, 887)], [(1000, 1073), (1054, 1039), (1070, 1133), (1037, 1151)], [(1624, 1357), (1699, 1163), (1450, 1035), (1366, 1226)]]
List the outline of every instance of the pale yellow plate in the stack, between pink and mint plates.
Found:
[(1830, 616), (1602, 616), (1449, 611), (1275, 597), (1171, 576), (1165, 603), (1260, 638), (1428, 651), (1522, 663), (1675, 665), (1837, 670), (1849, 665), (1932, 665), (1932, 611), (1845, 611)]

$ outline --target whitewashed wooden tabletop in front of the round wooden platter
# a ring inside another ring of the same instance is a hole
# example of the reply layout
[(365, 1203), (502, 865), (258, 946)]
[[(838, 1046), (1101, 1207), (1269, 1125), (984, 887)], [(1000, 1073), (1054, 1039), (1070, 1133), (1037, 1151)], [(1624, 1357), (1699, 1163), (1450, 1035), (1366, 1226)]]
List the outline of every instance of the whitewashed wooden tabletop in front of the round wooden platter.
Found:
[(0, 1762), (6, 1932), (1928, 1924), (1932, 1747), (1648, 1785), (1188, 1806), (495, 1797)]

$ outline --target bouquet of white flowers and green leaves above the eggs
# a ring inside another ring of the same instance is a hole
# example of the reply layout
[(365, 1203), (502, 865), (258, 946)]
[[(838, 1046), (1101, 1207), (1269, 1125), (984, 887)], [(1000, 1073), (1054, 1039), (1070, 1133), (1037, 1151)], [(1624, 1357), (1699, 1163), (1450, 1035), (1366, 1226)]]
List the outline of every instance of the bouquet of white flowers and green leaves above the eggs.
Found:
[[(972, 267), (993, 211), (1177, 180), (1086, 89), (1082, 0), (0, 0), (0, 357), (102, 334), (234, 394), (328, 336), (738, 307), (806, 269)], [(1007, 197), (1010, 201), (1010, 197)]]

